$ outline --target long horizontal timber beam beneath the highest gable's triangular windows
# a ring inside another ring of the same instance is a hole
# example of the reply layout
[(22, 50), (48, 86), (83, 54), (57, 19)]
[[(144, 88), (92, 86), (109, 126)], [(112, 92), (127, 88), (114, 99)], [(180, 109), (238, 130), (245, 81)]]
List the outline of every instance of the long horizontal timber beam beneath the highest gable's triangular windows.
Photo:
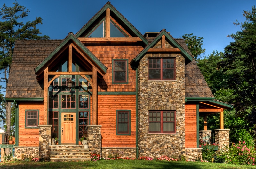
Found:
[(106, 38), (78, 38), (82, 43), (84, 42), (131, 42), (142, 41), (139, 37), (106, 37)]

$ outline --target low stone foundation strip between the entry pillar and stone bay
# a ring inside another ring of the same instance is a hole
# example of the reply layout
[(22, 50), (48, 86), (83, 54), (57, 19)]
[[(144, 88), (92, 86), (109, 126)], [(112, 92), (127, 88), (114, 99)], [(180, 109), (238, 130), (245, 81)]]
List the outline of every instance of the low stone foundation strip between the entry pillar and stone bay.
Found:
[(101, 148), (102, 157), (114, 156), (129, 157), (136, 159), (136, 147), (104, 147)]

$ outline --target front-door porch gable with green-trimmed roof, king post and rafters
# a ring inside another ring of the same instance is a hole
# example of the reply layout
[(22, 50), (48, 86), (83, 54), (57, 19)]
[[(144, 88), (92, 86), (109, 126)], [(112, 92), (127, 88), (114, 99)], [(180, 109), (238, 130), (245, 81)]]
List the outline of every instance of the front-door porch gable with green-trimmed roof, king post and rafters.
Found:
[[(36, 68), (36, 78), (37, 80), (41, 80), (44, 74), (44, 69), (46, 67), (56, 67), (55, 64), (61, 60), (60, 57), (63, 57), (65, 53), (72, 55), (72, 50), (74, 50), (74, 56), (76, 56), (76, 60), (85, 64), (90, 71), (92, 71), (92, 67), (97, 69), (97, 72), (103, 76), (106, 71), (107, 67), (100, 62), (100, 60), (95, 57), (89, 49), (87, 49), (84, 44), (82, 44), (72, 32), (68, 34), (68, 36), (62, 40), (59, 46), (57, 46)], [(68, 57), (70, 64), (72, 67), (72, 56)], [(75, 57), (74, 57), (75, 59)], [(69, 67), (69, 66), (68, 66)], [(89, 71), (89, 70), (87, 70)]]

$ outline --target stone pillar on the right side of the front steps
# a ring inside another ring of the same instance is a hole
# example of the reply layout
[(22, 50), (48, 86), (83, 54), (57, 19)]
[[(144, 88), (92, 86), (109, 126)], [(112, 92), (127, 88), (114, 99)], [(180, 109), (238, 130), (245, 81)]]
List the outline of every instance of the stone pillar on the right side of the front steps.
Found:
[(87, 127), (90, 152), (101, 155), (101, 125), (88, 125)]

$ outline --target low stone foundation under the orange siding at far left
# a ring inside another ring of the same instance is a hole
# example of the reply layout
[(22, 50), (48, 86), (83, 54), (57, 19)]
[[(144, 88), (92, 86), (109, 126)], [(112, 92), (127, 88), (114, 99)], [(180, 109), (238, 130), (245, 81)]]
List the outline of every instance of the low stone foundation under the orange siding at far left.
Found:
[(27, 158), (39, 158), (39, 147), (13, 147), (14, 158), (24, 160)]

